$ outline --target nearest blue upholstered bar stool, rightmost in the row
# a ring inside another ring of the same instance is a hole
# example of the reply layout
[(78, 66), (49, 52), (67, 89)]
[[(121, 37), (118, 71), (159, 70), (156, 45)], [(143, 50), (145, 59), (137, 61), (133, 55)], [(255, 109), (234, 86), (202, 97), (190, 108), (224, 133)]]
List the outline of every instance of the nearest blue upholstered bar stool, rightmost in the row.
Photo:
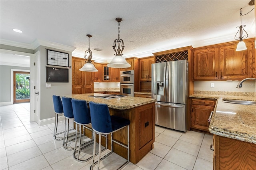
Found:
[[(123, 168), (126, 164), (129, 163), (129, 125), (130, 125), (130, 121), (128, 119), (124, 119), (122, 117), (118, 117), (118, 116), (114, 116), (114, 115), (110, 116), (110, 113), (108, 110), (108, 105), (90, 102), (89, 107), (90, 107), (90, 115), (91, 115), (91, 120), (92, 120), (92, 129), (94, 131), (94, 141), (96, 140), (95, 134), (96, 133), (99, 134), (99, 151), (98, 151), (99, 157), (98, 157), (97, 169), (100, 168), (100, 161), (113, 153), (113, 142), (123, 146), (124, 148), (127, 148), (127, 150), (128, 150), (126, 162), (124, 164), (122, 164), (122, 166), (120, 166), (118, 169)], [(127, 146), (125, 146), (124, 144), (122, 144), (120, 142), (113, 140), (113, 133), (122, 128), (125, 128), (125, 127), (128, 128)], [(100, 158), (101, 134), (111, 134), (111, 152), (107, 153), (103, 158)], [(96, 142), (94, 142), (94, 146), (93, 146), (92, 166), (90, 168), (91, 170), (93, 170), (93, 166), (94, 166), (95, 150), (96, 150)]]

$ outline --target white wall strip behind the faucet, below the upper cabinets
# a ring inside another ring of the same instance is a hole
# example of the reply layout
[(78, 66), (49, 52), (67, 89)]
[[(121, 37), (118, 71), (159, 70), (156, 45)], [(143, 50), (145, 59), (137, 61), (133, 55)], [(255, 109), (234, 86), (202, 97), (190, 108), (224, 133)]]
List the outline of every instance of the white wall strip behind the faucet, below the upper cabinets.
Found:
[[(214, 88), (211, 88), (214, 83)], [(255, 81), (245, 81), (242, 88), (236, 88), (239, 81), (194, 81), (195, 91), (236, 91), (236, 92), (256, 92)]]

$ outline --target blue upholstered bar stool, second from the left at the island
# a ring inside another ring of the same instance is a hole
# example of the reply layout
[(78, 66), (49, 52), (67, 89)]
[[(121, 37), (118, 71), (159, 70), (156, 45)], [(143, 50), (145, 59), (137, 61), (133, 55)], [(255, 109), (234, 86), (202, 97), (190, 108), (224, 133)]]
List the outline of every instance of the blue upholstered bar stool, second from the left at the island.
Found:
[(68, 97), (62, 97), (62, 105), (63, 105), (63, 111), (64, 111), (64, 116), (65, 116), (65, 130), (64, 130), (64, 139), (63, 139), (63, 148), (66, 150), (73, 150), (74, 148), (68, 148), (67, 144), (68, 142), (75, 140), (75, 138), (72, 138), (68, 140), (68, 137), (75, 136), (75, 134), (72, 134), (69, 136), (69, 131), (74, 130), (69, 129), (69, 120), (74, 119), (74, 114), (73, 114), (73, 107), (72, 107), (72, 98)]

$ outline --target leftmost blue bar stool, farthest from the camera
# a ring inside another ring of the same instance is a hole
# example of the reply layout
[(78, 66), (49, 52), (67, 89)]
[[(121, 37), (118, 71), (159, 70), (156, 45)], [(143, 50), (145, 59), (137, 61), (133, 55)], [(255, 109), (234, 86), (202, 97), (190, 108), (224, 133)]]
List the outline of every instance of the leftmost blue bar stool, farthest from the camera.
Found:
[(57, 133), (58, 128), (58, 115), (63, 113), (63, 106), (62, 101), (60, 99), (60, 96), (53, 95), (53, 106), (55, 111), (55, 125), (54, 125), (54, 132), (53, 132), (53, 138), (54, 140), (63, 140), (63, 138), (56, 138), (58, 134), (62, 134), (64, 132)]

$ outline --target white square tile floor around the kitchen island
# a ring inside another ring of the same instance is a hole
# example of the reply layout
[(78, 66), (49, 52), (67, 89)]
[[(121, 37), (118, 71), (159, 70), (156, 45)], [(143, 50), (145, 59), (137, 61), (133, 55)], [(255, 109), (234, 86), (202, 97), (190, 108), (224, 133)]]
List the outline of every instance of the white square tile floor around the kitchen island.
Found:
[[(0, 169), (89, 170), (91, 160), (77, 162), (73, 151), (64, 150), (62, 141), (53, 140), (54, 124), (38, 127), (29, 121), (29, 107), (29, 103), (0, 107)], [(64, 128), (64, 123), (59, 123), (58, 128)], [(136, 165), (130, 162), (124, 170), (212, 170), (210, 144), (209, 134), (155, 126), (154, 149)], [(92, 155), (90, 150), (81, 155)], [(123, 161), (124, 158), (111, 154), (100, 167), (112, 170)]]

